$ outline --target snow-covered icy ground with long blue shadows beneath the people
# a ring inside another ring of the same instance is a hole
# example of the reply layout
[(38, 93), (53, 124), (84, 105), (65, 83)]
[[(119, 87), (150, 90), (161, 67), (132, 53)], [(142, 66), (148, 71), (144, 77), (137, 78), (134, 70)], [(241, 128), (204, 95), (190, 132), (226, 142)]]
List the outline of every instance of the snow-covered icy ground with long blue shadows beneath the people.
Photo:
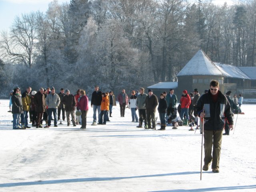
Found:
[[(255, 114), (243, 104), (235, 133), (223, 136), (220, 173), (203, 172), (201, 134), (188, 126), (166, 131), (136, 128), (130, 110), (119, 106), (107, 125), (86, 130), (57, 128), (12, 130), (8, 100), (0, 100), (0, 191), (256, 191)], [(236, 120), (235, 115), (235, 120)], [(58, 122), (59, 123), (59, 122)]]

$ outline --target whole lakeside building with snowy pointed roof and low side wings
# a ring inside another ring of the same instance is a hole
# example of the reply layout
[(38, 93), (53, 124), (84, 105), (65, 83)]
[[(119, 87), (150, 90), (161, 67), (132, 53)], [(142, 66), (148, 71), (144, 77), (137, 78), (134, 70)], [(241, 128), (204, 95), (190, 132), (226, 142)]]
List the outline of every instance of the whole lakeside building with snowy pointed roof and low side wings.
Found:
[(160, 82), (148, 89), (168, 92), (173, 88), (180, 97), (183, 90), (193, 92), (195, 88), (202, 94), (204, 90), (209, 89), (211, 80), (218, 80), (220, 91), (224, 94), (230, 90), (233, 94), (242, 93), (248, 98), (256, 96), (256, 67), (236, 67), (212, 62), (201, 49), (188, 61), (177, 77), (178, 84)]

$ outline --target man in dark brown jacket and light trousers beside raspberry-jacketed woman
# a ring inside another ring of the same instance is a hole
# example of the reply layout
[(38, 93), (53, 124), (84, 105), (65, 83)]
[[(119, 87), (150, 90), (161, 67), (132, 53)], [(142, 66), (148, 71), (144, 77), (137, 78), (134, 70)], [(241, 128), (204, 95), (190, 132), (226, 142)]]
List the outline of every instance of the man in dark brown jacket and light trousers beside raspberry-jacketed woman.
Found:
[(70, 94), (70, 91), (66, 90), (66, 95), (63, 96), (62, 103), (65, 105), (66, 117), (68, 126), (70, 126), (70, 114), (72, 124), (76, 126), (76, 118), (75, 118), (75, 106), (76, 106), (76, 98), (74, 95)]

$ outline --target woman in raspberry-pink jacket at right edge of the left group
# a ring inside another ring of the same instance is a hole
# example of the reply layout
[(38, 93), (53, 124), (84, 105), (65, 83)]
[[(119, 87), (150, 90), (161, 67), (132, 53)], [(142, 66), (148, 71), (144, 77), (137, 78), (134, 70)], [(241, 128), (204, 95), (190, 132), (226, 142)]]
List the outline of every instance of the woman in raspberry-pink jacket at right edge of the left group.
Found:
[(80, 129), (86, 129), (86, 118), (87, 112), (89, 110), (89, 100), (85, 94), (85, 90), (80, 90), (80, 98), (78, 98), (78, 102), (76, 104), (76, 109), (81, 111), (81, 119), (82, 119), (82, 126)]

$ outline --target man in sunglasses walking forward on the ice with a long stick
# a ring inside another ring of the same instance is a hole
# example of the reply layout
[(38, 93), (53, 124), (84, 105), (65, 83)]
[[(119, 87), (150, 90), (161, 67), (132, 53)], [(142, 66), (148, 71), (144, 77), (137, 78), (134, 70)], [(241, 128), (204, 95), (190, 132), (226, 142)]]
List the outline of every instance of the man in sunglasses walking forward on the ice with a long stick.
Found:
[(228, 120), (230, 130), (233, 130), (233, 118), (230, 104), (220, 92), (217, 80), (210, 82), (210, 90), (199, 98), (196, 110), (200, 118), (204, 118), (204, 166), (202, 169), (207, 171), (212, 161), (212, 172), (218, 173), (225, 118)]

